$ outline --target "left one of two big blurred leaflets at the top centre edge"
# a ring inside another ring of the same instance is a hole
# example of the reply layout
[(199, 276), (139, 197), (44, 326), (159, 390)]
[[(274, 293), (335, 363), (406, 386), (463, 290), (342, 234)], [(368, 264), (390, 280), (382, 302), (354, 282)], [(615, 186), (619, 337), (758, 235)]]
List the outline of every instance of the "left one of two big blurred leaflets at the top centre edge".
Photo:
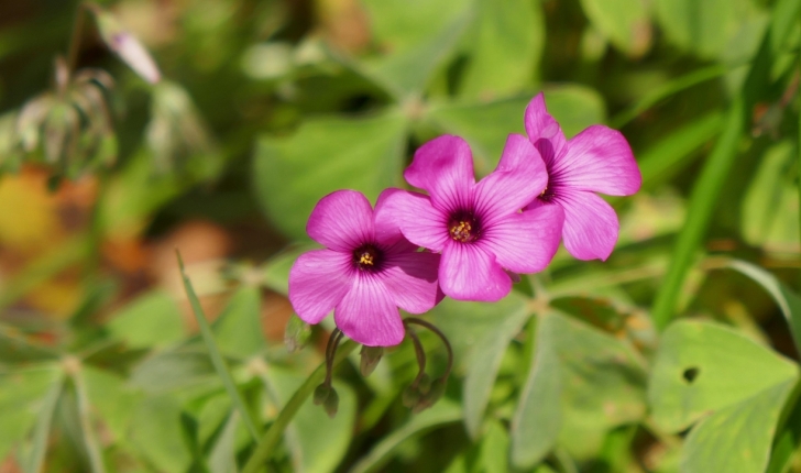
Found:
[(468, 0), (365, 0), (374, 40), (385, 54), (363, 61), (367, 75), (397, 99), (420, 95), (469, 24)]

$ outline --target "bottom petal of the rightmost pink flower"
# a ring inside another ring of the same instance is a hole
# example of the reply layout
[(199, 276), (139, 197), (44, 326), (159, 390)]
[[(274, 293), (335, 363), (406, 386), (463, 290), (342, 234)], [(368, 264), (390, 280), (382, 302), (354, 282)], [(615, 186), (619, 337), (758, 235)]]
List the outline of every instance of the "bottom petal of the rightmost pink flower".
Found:
[(614, 209), (593, 193), (563, 189), (557, 201), (564, 209), (564, 248), (579, 260), (606, 260), (617, 242)]

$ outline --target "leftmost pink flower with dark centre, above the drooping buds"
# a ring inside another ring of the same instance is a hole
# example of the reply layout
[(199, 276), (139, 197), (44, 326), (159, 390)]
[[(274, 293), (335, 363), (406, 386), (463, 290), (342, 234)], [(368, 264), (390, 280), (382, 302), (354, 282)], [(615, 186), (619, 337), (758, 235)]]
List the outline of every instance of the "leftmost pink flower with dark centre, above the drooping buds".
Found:
[(398, 307), (423, 314), (442, 299), (439, 255), (418, 252), (391, 219), (383, 219), (387, 193), (375, 211), (355, 190), (320, 199), (306, 232), (325, 250), (297, 258), (289, 272), (289, 301), (304, 321), (318, 323), (333, 309), (342, 332), (359, 343), (389, 346), (405, 330)]

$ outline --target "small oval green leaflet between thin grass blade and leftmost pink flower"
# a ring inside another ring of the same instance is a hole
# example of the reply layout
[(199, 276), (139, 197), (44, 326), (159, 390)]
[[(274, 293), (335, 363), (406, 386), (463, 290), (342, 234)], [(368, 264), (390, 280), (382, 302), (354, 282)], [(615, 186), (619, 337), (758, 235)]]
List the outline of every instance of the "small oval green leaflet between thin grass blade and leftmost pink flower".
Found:
[(261, 324), (262, 296), (257, 287), (242, 287), (228, 301), (212, 331), (222, 353), (246, 359), (266, 348)]

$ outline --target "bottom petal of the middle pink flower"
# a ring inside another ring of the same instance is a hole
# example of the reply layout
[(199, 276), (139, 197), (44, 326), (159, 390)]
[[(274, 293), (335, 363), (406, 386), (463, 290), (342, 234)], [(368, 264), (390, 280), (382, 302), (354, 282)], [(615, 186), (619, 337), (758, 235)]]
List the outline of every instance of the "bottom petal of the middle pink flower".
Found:
[(458, 300), (496, 301), (512, 290), (512, 279), (480, 245), (449, 241), (439, 266), (442, 292)]

